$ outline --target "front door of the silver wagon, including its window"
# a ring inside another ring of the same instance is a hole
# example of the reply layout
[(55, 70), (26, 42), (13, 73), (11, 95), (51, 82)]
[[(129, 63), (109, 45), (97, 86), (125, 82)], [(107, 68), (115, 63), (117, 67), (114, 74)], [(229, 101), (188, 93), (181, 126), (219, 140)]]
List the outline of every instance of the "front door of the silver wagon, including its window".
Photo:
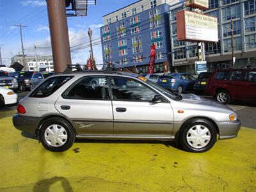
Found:
[(173, 111), (170, 102), (152, 102), (157, 92), (128, 77), (112, 77), (114, 136), (170, 138)]

